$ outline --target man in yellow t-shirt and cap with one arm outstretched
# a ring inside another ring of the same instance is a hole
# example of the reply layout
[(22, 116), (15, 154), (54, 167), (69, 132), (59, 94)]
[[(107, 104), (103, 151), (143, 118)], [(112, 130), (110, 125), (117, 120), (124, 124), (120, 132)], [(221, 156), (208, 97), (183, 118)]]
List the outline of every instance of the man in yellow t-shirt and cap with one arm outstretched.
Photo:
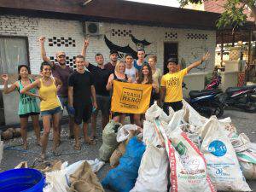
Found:
[(178, 71), (177, 61), (173, 58), (167, 61), (167, 68), (169, 73), (166, 73), (161, 79), (161, 101), (164, 102), (163, 110), (169, 114), (169, 107), (172, 107), (174, 111), (183, 108), (183, 77), (189, 73), (189, 71), (201, 65), (203, 61), (207, 61), (209, 53), (207, 52), (200, 61), (195, 61), (189, 67)]

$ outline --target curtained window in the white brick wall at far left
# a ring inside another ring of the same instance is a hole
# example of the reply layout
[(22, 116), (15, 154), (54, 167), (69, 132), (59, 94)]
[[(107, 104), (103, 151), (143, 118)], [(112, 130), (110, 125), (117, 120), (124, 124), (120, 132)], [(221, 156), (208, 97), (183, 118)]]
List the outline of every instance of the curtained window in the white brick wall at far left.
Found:
[(0, 73), (17, 73), (19, 65), (29, 65), (27, 42), (27, 38), (0, 37)]

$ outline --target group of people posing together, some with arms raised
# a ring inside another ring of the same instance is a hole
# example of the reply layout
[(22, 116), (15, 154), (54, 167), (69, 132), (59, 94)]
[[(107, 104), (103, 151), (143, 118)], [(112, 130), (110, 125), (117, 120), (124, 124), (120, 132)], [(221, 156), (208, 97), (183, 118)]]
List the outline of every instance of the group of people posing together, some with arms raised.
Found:
[[(195, 61), (189, 67), (179, 70), (177, 61), (170, 58), (167, 61), (169, 73), (162, 76), (156, 67), (157, 57), (150, 55), (145, 61), (145, 51), (137, 50), (137, 60), (131, 54), (125, 55), (125, 61), (120, 61), (118, 52), (111, 50), (110, 61), (104, 64), (101, 53), (95, 55), (96, 65), (85, 61), (89, 41), (84, 40), (81, 55), (75, 59), (76, 70), (66, 65), (65, 52), (56, 53), (56, 61), (51, 62), (44, 48), (45, 38), (40, 37), (39, 43), (43, 62), (40, 67), (40, 78), (31, 79), (30, 68), (26, 65), (18, 67), (19, 79), (8, 86), (9, 77), (3, 74), (5, 94), (19, 91), (19, 116), (21, 137), (24, 148), (27, 148), (26, 127), (28, 118), (32, 118), (32, 125), (37, 137), (38, 145), (42, 146), (40, 160), (45, 159), (50, 127), (53, 128), (53, 154), (58, 155), (58, 146), (61, 143), (61, 123), (64, 108), (69, 116), (69, 137), (75, 139), (74, 148), (79, 150), (79, 125), (83, 122), (84, 143), (94, 143), (96, 137), (96, 119), (98, 111), (102, 112), (102, 128), (108, 124), (109, 117), (124, 124), (125, 117), (129, 116), (131, 124), (143, 127), (143, 114), (111, 112), (111, 96), (113, 80), (134, 84), (152, 84), (149, 106), (157, 101), (168, 114), (168, 108), (175, 111), (181, 109), (183, 93), (183, 77), (189, 71), (206, 61), (209, 54)], [(37, 91), (38, 90), (38, 91)], [(40, 99), (40, 108), (36, 98)], [(41, 113), (44, 125), (44, 134), (40, 137), (38, 115)], [(88, 123), (91, 120), (91, 136), (87, 134)]]

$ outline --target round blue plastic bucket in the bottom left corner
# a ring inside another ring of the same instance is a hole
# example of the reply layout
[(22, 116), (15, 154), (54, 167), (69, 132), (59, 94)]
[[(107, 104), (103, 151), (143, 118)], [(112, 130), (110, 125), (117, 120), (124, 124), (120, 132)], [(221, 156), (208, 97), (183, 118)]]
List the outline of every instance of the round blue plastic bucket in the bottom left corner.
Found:
[(0, 192), (41, 192), (44, 175), (36, 169), (12, 169), (0, 173)]

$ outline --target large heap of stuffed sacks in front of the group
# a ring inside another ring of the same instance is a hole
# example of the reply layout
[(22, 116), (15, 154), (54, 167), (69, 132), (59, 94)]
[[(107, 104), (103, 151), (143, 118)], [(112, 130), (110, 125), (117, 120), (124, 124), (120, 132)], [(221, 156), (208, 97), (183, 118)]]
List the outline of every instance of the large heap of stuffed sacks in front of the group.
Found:
[(116, 132), (112, 122), (109, 130), (116, 137), (106, 157), (113, 169), (102, 180), (104, 188), (119, 192), (251, 191), (246, 178), (256, 178), (256, 144), (245, 134), (238, 135), (230, 118), (207, 119), (185, 101), (183, 109), (169, 110), (166, 115), (154, 103), (145, 113), (143, 131), (124, 125)]

